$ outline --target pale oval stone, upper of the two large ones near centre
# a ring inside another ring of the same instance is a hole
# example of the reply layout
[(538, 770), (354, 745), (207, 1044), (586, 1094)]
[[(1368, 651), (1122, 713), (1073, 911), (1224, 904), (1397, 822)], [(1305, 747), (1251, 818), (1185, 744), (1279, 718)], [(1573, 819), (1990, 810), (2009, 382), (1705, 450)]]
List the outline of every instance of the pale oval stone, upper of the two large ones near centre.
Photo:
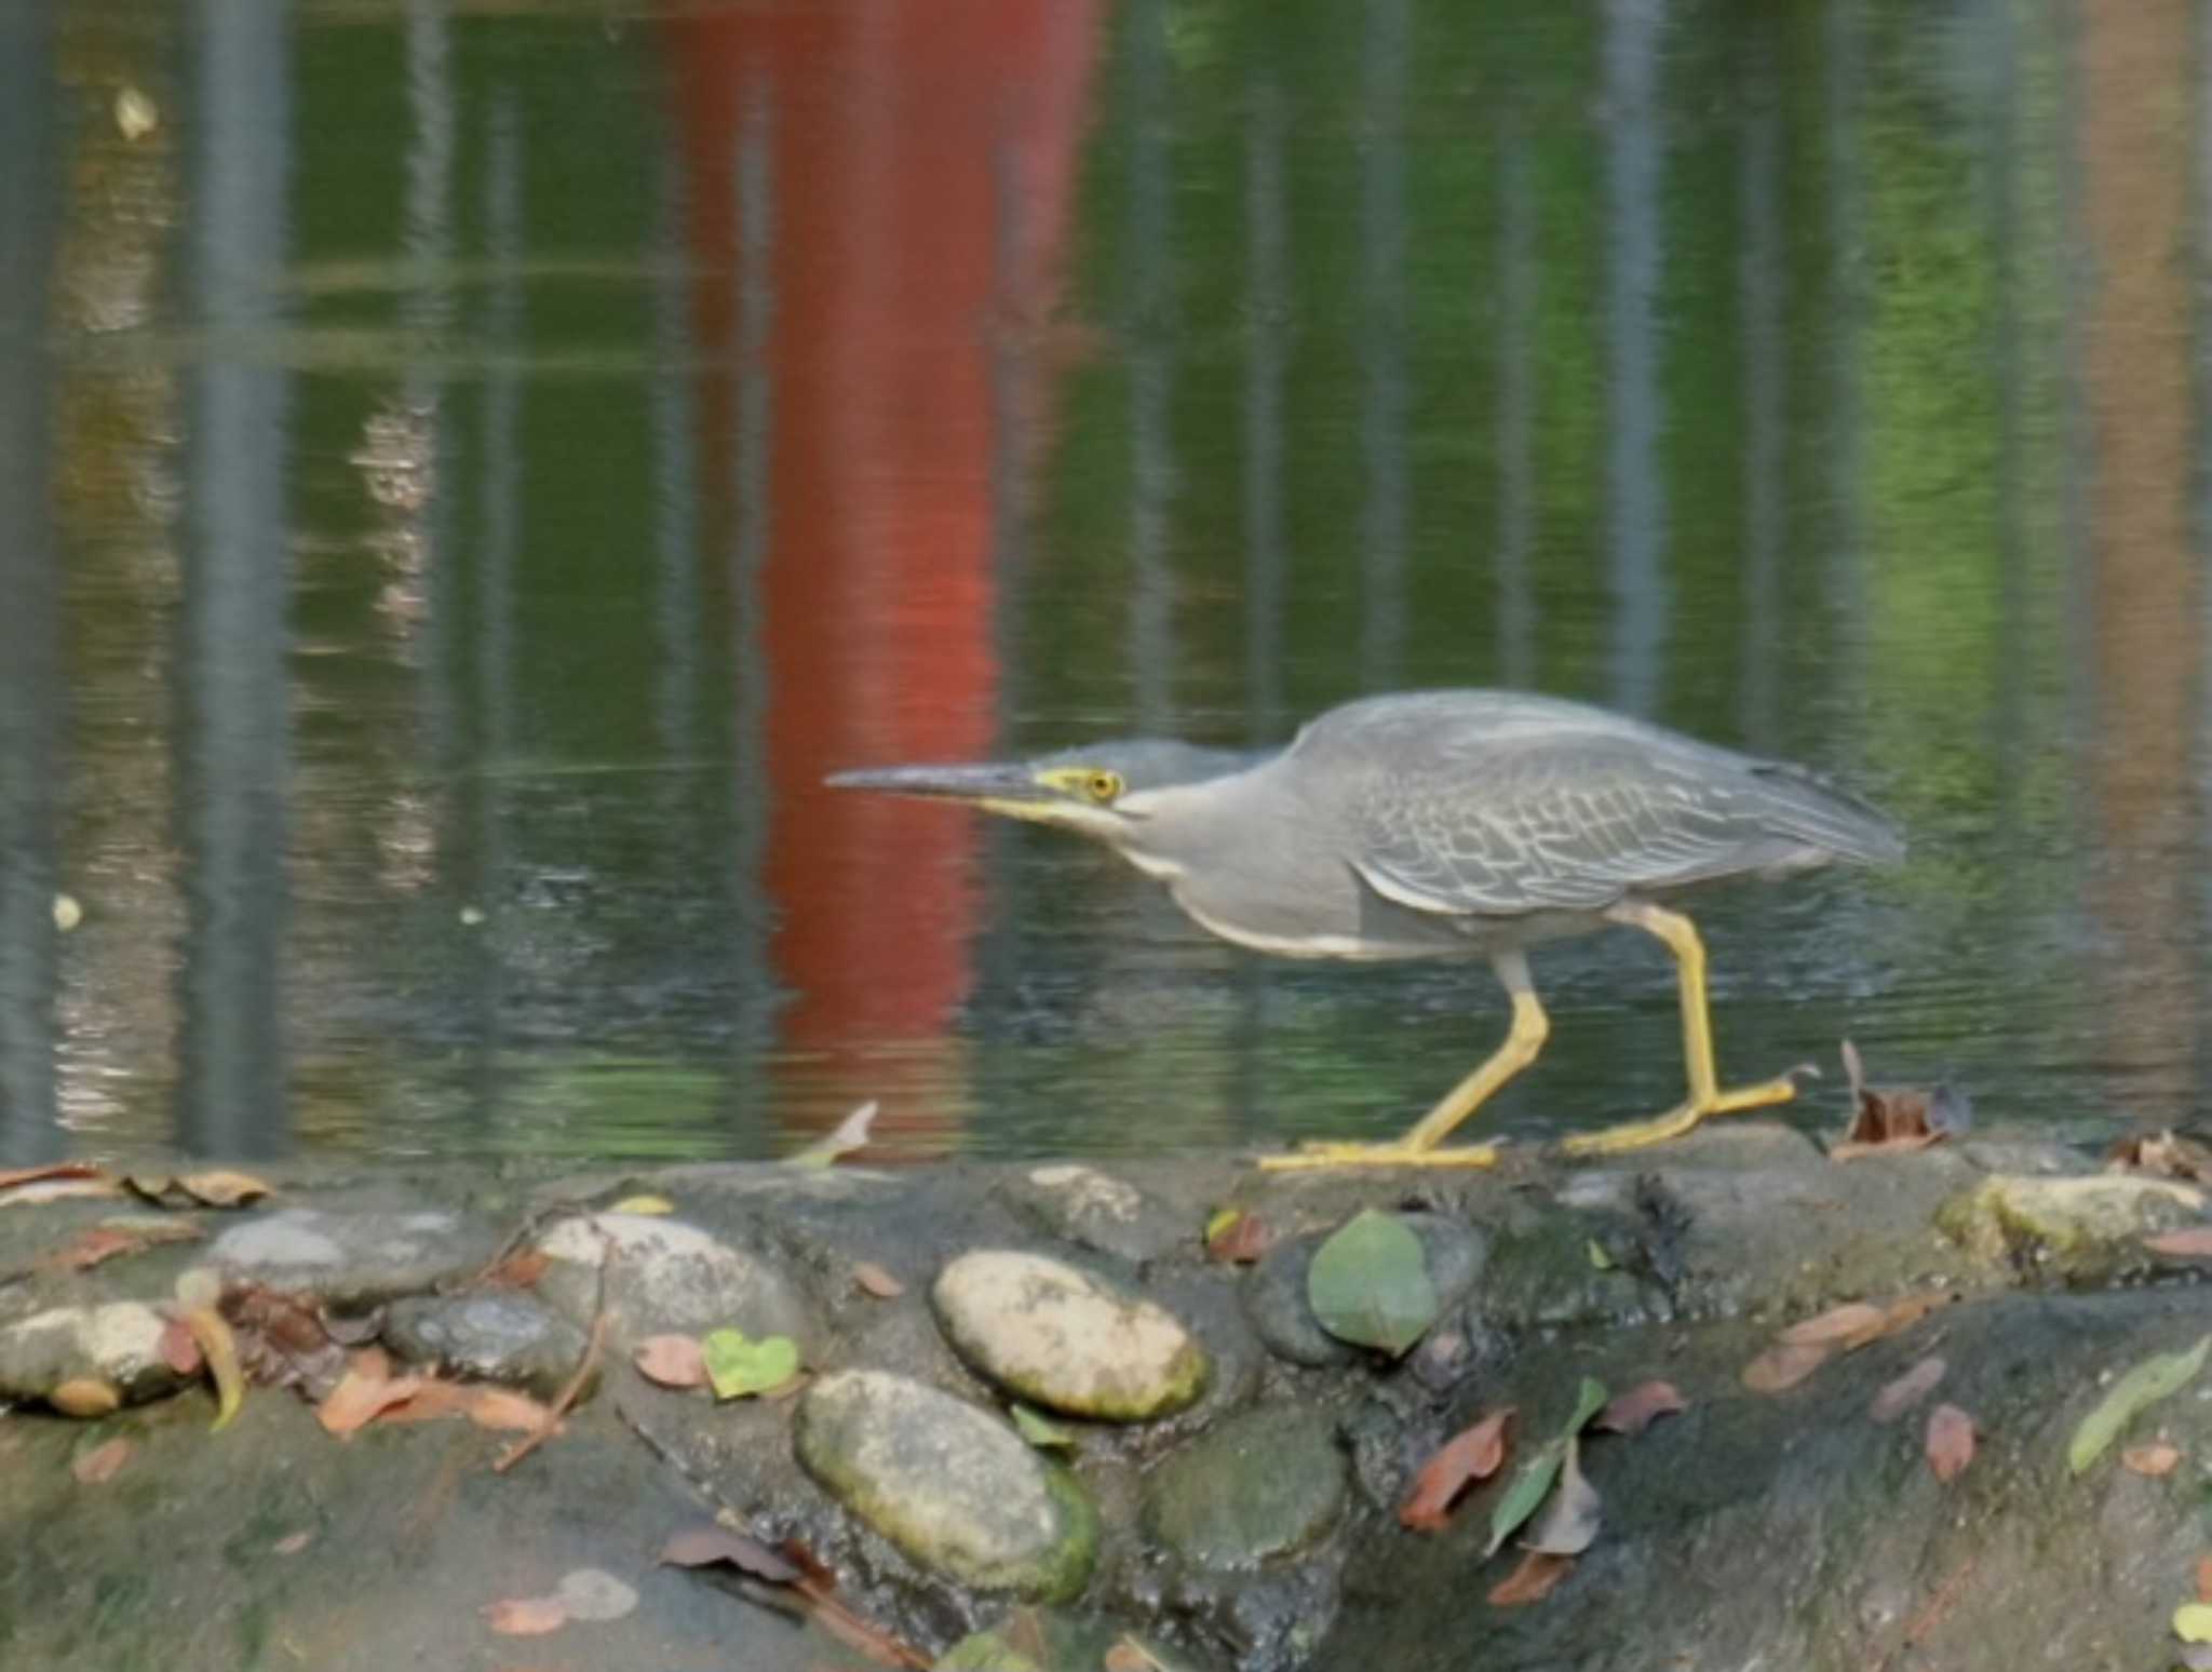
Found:
[(960, 1358), (1033, 1404), (1141, 1422), (1206, 1391), (1206, 1349), (1175, 1314), (1044, 1254), (962, 1254), (929, 1298)]

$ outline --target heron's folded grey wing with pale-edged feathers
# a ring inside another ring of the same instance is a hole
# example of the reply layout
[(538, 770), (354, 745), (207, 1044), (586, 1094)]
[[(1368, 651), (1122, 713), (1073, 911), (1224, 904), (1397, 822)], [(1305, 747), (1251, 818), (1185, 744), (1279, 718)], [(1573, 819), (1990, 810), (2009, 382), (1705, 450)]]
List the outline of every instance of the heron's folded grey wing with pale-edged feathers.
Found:
[(1416, 911), (1599, 911), (1818, 845), (1778, 827), (1761, 767), (1668, 734), (1447, 732), (1371, 767), (1349, 858)]

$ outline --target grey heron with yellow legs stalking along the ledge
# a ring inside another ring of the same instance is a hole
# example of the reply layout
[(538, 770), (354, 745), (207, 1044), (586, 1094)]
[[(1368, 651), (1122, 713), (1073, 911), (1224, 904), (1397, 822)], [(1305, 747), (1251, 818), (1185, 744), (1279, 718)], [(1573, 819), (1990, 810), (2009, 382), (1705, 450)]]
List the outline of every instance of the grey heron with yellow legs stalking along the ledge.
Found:
[(841, 772), (843, 790), (958, 801), (1093, 836), (1203, 929), (1285, 958), (1486, 955), (1513, 1000), (1504, 1044), (1394, 1143), (1316, 1143), (1267, 1168), (1489, 1166), (1444, 1137), (1535, 1062), (1551, 1031), (1540, 940), (1608, 924), (1666, 942), (1681, 982), (1688, 1095), (1655, 1119), (1566, 1139), (1630, 1150), (1708, 1115), (1783, 1104), (1783, 1075), (1721, 1086), (1705, 947), (1668, 907), (1732, 876), (1905, 856), (1898, 827), (1818, 774), (1506, 690), (1369, 697), (1283, 750), (1097, 743), (1035, 761)]

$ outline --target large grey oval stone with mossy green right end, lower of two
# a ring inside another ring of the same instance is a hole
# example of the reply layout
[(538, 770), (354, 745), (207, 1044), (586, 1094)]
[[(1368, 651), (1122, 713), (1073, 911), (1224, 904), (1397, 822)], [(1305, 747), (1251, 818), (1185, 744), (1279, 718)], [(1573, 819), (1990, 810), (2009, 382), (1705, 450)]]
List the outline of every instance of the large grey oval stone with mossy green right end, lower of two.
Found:
[(978, 1590), (1064, 1601), (1097, 1559), (1084, 1488), (1004, 1422), (887, 1371), (799, 1400), (799, 1462), (907, 1557)]

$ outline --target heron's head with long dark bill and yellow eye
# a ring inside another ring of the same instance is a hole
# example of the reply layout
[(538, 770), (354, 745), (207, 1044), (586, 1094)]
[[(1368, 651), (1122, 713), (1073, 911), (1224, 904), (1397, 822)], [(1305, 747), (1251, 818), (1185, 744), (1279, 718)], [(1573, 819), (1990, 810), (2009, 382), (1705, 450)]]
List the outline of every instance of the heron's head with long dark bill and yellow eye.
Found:
[(1170, 739), (1124, 739), (1055, 750), (1031, 761), (898, 765), (830, 776), (834, 790), (958, 801), (1002, 818), (1057, 825), (1126, 847), (1166, 805), (1164, 792), (1241, 772), (1241, 750), (1203, 750)]

